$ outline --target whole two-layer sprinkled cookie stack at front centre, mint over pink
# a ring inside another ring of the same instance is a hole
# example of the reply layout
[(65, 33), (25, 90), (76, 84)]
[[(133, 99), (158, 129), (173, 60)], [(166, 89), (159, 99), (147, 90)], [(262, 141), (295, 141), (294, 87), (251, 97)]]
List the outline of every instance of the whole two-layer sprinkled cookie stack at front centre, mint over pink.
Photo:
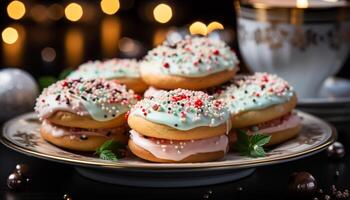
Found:
[(152, 162), (217, 160), (227, 151), (229, 117), (225, 103), (204, 92), (161, 91), (130, 110), (129, 148)]

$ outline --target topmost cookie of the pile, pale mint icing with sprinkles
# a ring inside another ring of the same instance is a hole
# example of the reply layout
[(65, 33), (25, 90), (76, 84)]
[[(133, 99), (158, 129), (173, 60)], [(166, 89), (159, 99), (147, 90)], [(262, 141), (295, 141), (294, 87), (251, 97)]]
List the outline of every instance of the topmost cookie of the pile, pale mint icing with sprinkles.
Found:
[(140, 64), (142, 79), (160, 89), (201, 90), (230, 80), (238, 71), (236, 54), (222, 41), (189, 37), (165, 41)]

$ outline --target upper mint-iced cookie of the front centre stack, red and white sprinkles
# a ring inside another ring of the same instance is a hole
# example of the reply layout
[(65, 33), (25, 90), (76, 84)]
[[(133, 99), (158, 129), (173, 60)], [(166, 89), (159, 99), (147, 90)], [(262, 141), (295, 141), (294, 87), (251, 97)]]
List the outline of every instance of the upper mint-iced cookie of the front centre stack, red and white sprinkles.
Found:
[[(229, 119), (230, 113), (222, 100), (216, 100), (201, 91), (176, 89), (159, 91), (156, 97), (139, 101), (130, 110), (128, 123), (132, 129), (152, 137), (174, 139), (170, 136), (173, 132), (173, 135), (180, 135), (175, 139), (188, 139), (192, 136), (195, 139), (228, 133)], [(158, 125), (161, 128), (157, 131), (149, 129)], [(199, 133), (199, 130), (206, 131)]]

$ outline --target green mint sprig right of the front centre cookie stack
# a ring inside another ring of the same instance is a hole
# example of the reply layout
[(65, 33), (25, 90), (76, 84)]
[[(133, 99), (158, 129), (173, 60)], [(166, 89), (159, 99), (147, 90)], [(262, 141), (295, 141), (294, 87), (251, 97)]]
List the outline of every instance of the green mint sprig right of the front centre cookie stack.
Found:
[(237, 129), (236, 131), (236, 149), (240, 154), (254, 158), (266, 156), (263, 146), (270, 141), (271, 136), (258, 133), (249, 136), (241, 129)]

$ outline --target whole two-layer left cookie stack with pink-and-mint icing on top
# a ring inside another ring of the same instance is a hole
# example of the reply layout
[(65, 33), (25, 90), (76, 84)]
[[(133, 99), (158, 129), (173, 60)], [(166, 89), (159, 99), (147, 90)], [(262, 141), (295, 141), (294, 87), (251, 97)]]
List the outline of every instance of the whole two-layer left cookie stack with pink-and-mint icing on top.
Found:
[(126, 142), (125, 113), (138, 95), (104, 79), (62, 80), (44, 89), (35, 111), (47, 141), (72, 150), (95, 151), (103, 142)]

